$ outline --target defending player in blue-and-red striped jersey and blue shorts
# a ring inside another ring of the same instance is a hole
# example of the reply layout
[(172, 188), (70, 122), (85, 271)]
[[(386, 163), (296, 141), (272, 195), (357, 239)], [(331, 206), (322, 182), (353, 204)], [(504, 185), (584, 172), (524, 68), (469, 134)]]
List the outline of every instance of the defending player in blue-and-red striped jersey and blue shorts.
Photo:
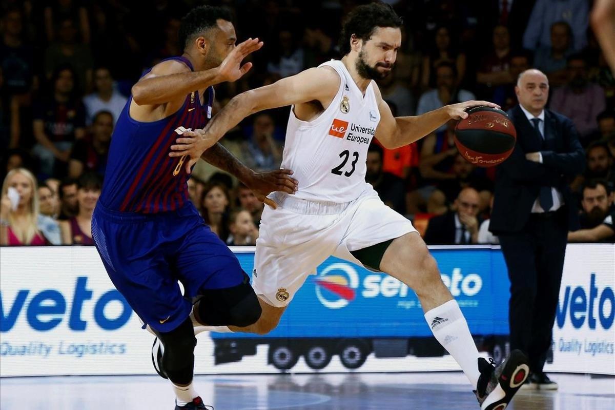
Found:
[[(180, 39), (183, 55), (149, 70), (117, 119), (92, 237), (109, 278), (157, 335), (164, 352), (159, 371), (172, 382), (175, 409), (192, 410), (210, 407), (192, 386), (191, 299), (202, 297), (199, 317), (218, 326), (249, 326), (261, 307), (235, 255), (188, 200), (186, 158), (168, 153), (178, 135), (207, 124), (212, 86), (250, 70), (242, 60), (263, 43), (248, 39), (236, 47), (229, 12), (207, 6), (183, 18)], [(220, 145), (203, 158), (237, 175), (257, 196), (296, 189), (290, 171), (255, 174)]]

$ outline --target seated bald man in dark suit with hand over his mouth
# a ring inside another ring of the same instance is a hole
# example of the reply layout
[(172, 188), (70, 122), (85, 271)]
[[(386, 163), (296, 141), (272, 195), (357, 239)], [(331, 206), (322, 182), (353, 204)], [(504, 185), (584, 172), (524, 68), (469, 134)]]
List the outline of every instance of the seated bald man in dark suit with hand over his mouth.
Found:
[(453, 211), (429, 220), (425, 232), (428, 245), (452, 245), (478, 243), (478, 191), (466, 187), (459, 192), (453, 204)]

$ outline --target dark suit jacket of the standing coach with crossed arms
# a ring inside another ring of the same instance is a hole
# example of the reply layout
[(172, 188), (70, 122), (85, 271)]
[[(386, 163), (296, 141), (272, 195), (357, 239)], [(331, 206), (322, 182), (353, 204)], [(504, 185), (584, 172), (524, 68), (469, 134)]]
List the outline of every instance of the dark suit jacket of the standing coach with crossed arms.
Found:
[[(521, 231), (541, 187), (555, 187), (560, 191), (568, 209), (568, 230), (578, 229), (576, 202), (568, 181), (583, 172), (585, 153), (572, 121), (545, 110), (543, 143), (519, 105), (508, 115), (517, 129), (517, 143), (509, 158), (496, 170), (489, 230), (495, 235)], [(526, 153), (537, 151), (542, 153), (542, 164), (525, 159)]]

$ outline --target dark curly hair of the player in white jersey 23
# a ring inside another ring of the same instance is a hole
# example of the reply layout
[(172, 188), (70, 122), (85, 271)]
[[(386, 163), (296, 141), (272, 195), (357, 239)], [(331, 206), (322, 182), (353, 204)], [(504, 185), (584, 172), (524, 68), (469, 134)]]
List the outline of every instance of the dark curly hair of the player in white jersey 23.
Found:
[(401, 27), (403, 20), (389, 4), (375, 2), (352, 10), (342, 24), (339, 36), (339, 51), (342, 55), (350, 52), (350, 39), (355, 37), (368, 41), (378, 27)]

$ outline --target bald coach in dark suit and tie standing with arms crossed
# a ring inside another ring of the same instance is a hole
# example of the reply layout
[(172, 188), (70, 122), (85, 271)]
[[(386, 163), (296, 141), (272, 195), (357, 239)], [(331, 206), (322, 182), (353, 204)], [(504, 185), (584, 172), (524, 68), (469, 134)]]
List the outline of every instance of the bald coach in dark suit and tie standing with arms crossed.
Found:
[(568, 181), (583, 172), (585, 155), (570, 119), (545, 110), (549, 81), (523, 71), (512, 155), (496, 171), (490, 230), (499, 236), (510, 278), (510, 348), (530, 358), (528, 387), (554, 390), (544, 374), (560, 292), (569, 230), (579, 226)]

